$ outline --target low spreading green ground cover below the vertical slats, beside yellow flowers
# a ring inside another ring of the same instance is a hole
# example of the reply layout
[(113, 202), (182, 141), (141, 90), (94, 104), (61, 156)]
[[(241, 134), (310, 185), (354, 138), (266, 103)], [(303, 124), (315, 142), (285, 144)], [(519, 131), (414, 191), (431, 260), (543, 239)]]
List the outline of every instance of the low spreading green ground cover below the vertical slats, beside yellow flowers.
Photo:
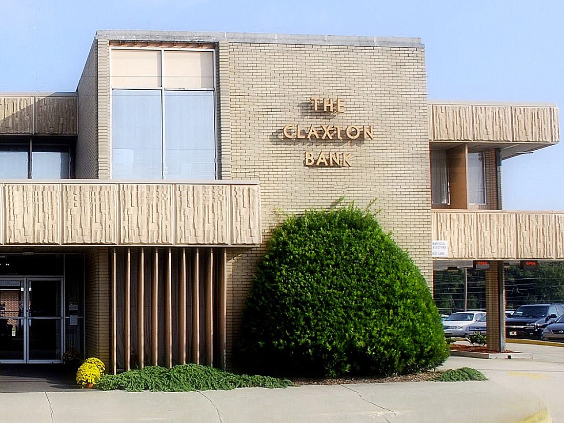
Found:
[(283, 388), (289, 385), (292, 385), (289, 380), (274, 377), (249, 376), (199, 364), (182, 364), (171, 369), (151, 366), (120, 374), (104, 374), (96, 387), (104, 391), (121, 389), (130, 392), (182, 392), (230, 390), (237, 387)]

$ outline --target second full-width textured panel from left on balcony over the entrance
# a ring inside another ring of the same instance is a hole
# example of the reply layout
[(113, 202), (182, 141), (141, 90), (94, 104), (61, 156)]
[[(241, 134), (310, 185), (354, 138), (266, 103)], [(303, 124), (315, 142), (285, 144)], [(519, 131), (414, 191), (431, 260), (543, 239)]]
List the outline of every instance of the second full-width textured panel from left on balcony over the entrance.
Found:
[(117, 244), (117, 186), (65, 184), (64, 244)]

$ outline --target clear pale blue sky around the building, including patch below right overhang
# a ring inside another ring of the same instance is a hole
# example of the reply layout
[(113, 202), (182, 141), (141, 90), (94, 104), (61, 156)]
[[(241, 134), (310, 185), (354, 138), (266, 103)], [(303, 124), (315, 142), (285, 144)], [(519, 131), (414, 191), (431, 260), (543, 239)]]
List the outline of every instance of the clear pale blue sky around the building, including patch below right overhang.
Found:
[[(420, 37), (431, 99), (564, 107), (563, 19), (561, 0), (0, 0), (0, 91), (74, 91), (96, 29), (213, 30)], [(563, 162), (564, 143), (505, 160), (504, 209), (564, 210)]]

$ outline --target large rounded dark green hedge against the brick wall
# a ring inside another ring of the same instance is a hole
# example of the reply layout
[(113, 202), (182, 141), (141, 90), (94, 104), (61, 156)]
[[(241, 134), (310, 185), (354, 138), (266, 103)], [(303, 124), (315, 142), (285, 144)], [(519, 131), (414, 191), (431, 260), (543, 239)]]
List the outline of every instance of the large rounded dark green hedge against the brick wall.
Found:
[(434, 368), (447, 356), (424, 278), (370, 212), (309, 210), (276, 228), (243, 314), (243, 367), (389, 375)]

